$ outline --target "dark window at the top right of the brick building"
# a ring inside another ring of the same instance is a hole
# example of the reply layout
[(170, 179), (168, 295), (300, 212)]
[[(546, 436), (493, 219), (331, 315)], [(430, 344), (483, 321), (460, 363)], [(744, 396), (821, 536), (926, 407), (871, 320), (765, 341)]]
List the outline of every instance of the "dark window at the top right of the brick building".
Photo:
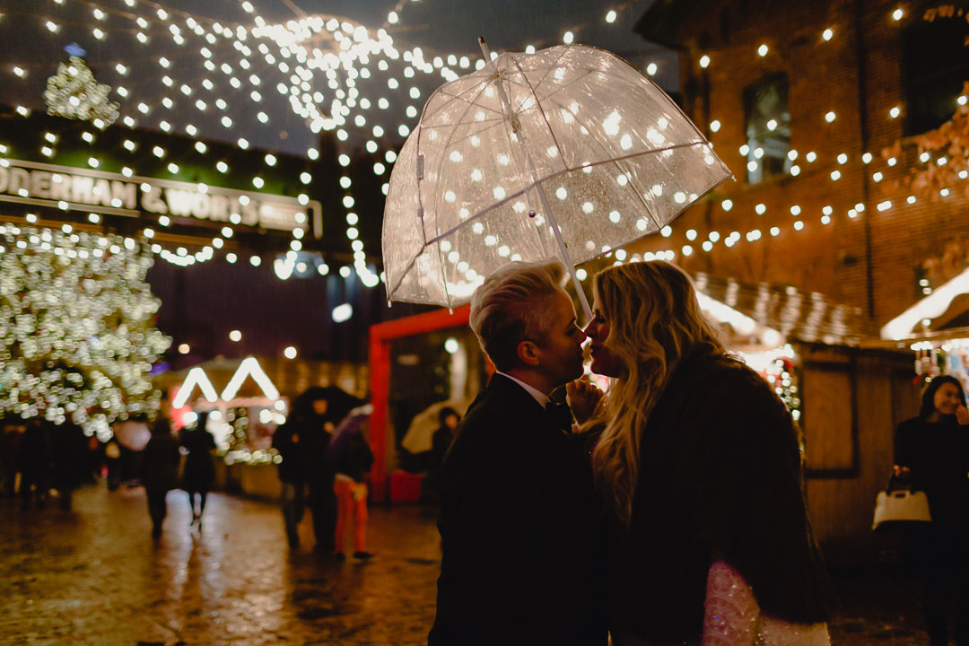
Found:
[(902, 32), (905, 135), (921, 135), (953, 117), (962, 82), (969, 79), (965, 20), (936, 15)]

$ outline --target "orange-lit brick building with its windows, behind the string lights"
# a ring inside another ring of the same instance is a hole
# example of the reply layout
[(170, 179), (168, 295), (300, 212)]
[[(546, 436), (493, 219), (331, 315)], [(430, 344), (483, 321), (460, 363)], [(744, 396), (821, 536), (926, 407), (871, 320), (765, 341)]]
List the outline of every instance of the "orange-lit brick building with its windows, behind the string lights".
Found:
[(909, 308), (948, 277), (933, 260), (969, 238), (965, 173), (947, 196), (904, 183), (926, 168), (913, 136), (964, 105), (967, 16), (969, 4), (657, 0), (638, 30), (681, 51), (683, 108), (736, 181), (635, 251), (822, 292), (879, 326)]

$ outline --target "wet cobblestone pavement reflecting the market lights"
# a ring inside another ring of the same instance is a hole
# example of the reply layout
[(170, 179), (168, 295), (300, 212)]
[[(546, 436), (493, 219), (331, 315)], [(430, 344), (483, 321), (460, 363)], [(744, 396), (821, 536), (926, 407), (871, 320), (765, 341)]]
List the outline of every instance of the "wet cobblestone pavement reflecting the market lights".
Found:
[[(150, 538), (141, 488), (87, 487), (75, 510), (0, 507), (0, 644), (203, 646), (426, 643), (440, 565), (433, 510), (372, 507), (368, 548), (339, 563), (286, 546), (274, 505), (212, 494), (203, 532), (169, 494)], [(307, 514), (308, 516), (308, 514)], [(910, 585), (842, 580), (831, 626), (845, 646), (927, 643)]]

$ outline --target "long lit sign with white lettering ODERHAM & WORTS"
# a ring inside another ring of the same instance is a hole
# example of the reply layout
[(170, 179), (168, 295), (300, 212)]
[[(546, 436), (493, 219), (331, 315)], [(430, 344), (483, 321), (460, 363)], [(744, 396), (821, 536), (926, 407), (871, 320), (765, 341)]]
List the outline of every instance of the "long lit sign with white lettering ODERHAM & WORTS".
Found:
[[(229, 222), (281, 231), (306, 229), (307, 209), (319, 220), (320, 202), (302, 206), (293, 198), (247, 193), (168, 179), (125, 177), (113, 172), (8, 159), (0, 167), (0, 201), (57, 205), (138, 216), (139, 211), (177, 217)], [(242, 196), (248, 200), (240, 200)], [(245, 202), (245, 203), (243, 203)]]

